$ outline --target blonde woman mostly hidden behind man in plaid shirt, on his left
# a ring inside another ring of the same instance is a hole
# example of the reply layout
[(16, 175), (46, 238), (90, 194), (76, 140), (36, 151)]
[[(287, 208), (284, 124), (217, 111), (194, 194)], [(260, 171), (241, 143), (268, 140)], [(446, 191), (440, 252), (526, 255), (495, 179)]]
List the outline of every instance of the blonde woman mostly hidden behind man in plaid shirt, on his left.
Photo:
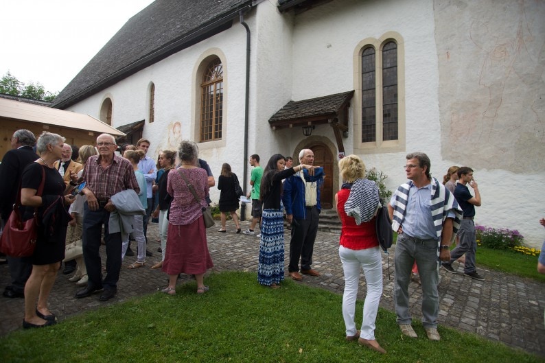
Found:
[[(96, 155), (97, 150), (93, 145), (83, 145), (80, 148), (80, 161), (85, 167), (87, 159), (90, 156)], [(78, 172), (78, 180), (82, 177), (83, 169)], [(67, 232), (67, 250), (65, 251), (65, 260), (76, 259), (78, 268), (76, 273), (69, 279), (69, 281), (77, 281), (76, 285), (87, 285), (87, 268), (83, 261), (83, 247), (82, 247), (82, 225), (83, 225), (83, 204), (86, 202), (87, 197), (84, 194), (76, 194), (74, 202), (70, 206), (68, 213), (70, 213), (72, 220), (68, 224)]]

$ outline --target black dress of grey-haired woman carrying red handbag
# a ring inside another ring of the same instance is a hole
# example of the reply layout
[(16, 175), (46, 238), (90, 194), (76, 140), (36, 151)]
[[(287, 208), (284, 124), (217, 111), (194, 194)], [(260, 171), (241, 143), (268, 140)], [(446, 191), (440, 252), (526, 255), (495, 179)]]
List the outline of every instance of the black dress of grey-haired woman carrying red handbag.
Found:
[[(21, 188), (36, 189), (40, 187), (42, 181), (42, 170), (45, 170), (45, 183), (43, 185), (43, 196), (54, 198), (55, 196), (64, 196), (66, 188), (65, 181), (58, 173), (58, 170), (51, 169), (38, 163), (30, 163), (25, 167), (23, 178), (21, 179)], [(38, 213), (39, 213), (38, 209)], [(25, 207), (25, 216), (23, 219), (30, 218), (34, 212), (34, 207)], [(40, 217), (38, 217), (40, 220)], [(54, 223), (50, 235), (46, 235), (45, 229), (38, 227), (38, 239), (34, 255), (30, 257), (33, 265), (47, 265), (62, 261), (65, 258), (66, 232), (68, 222), (59, 218)]]

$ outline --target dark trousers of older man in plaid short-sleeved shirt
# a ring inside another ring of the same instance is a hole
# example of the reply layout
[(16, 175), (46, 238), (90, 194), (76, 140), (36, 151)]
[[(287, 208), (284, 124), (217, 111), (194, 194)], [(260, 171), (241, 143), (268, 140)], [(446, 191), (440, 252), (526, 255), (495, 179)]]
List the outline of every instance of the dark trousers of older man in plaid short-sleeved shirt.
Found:
[[(104, 208), (91, 211), (87, 202), (83, 204), (83, 259), (87, 268), (91, 288), (117, 288), (121, 270), (121, 233), (109, 233), (110, 213)], [(106, 243), (106, 278), (102, 281), (102, 262), (100, 259), (100, 239), (104, 225)]]

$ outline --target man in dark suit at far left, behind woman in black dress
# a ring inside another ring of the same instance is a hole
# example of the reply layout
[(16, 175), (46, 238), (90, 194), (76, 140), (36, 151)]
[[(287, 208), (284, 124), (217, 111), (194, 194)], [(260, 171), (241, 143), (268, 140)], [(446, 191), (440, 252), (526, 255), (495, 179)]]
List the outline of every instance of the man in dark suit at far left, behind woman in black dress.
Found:
[[(12, 150), (5, 153), (0, 164), (2, 230), (13, 210), (23, 170), (28, 164), (38, 159), (38, 155), (32, 150), (34, 145), (36, 145), (36, 137), (29, 130), (16, 130), (11, 138), (11, 143)], [(8, 256), (8, 266), (10, 268), (12, 283), (5, 288), (3, 296), (8, 298), (24, 297), (25, 283), (30, 276), (30, 272), (32, 272), (32, 264), (25, 257)]]

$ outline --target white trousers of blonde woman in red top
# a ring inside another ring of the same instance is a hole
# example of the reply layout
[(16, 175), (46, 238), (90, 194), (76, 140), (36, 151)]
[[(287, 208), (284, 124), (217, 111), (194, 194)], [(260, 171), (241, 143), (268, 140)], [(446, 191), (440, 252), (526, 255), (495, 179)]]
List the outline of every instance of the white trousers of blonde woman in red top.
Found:
[(363, 303), (363, 320), (360, 337), (367, 340), (375, 339), (375, 320), (377, 319), (378, 303), (382, 295), (382, 258), (380, 248), (372, 247), (364, 250), (351, 250), (339, 246), (339, 257), (345, 272), (345, 293), (343, 294), (343, 318), (346, 335), (356, 335), (356, 298), (360, 282), (360, 271), (363, 268), (367, 283), (367, 294)]

